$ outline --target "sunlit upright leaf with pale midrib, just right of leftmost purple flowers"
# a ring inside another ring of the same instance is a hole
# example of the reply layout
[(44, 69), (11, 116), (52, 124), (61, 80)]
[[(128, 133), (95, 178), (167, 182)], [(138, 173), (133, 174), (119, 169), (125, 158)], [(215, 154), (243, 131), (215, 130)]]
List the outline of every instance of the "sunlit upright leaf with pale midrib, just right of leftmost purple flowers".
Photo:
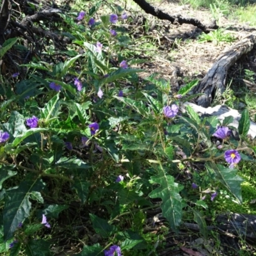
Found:
[(47, 122), (51, 118), (55, 118), (60, 114), (60, 93), (57, 93), (54, 97), (52, 97), (47, 104), (45, 104), (44, 108), (40, 109), (41, 112), (41, 118), (44, 118), (44, 122), (47, 124)]

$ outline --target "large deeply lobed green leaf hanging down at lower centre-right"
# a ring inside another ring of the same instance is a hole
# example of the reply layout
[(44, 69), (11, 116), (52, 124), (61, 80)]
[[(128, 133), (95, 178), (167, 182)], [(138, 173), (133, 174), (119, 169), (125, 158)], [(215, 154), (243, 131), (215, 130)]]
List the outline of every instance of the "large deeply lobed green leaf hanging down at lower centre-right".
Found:
[(174, 177), (167, 175), (163, 169), (159, 170), (156, 176), (151, 177), (151, 182), (160, 186), (154, 189), (149, 196), (163, 200), (161, 204), (163, 216), (169, 221), (172, 229), (177, 232), (182, 217), (182, 198), (179, 192), (183, 186), (175, 183), (174, 180)]

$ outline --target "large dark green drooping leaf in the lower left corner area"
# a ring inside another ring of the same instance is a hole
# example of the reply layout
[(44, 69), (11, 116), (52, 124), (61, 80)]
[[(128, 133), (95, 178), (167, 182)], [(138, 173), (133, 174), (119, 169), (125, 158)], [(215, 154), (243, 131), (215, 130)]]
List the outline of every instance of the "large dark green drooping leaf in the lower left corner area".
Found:
[(44, 188), (42, 180), (24, 180), (20, 182), (19, 188), (6, 191), (6, 201), (3, 209), (4, 217), (4, 239), (13, 236), (20, 222), (29, 216), (31, 202), (29, 195), (32, 191), (40, 191)]

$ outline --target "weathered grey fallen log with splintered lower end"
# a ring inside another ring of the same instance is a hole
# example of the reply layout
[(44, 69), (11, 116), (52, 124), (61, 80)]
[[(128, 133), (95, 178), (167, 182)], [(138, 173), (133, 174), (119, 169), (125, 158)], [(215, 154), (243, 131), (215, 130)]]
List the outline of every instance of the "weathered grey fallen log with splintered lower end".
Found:
[(207, 108), (210, 106), (212, 99), (215, 97), (221, 97), (225, 91), (225, 81), (227, 77), (228, 69), (236, 63), (243, 54), (246, 54), (253, 49), (253, 45), (256, 44), (256, 33), (247, 36), (236, 45), (232, 46), (226, 52), (223, 52), (214, 63), (211, 69), (207, 72), (205, 77), (195, 87), (193, 92), (204, 93), (204, 95), (198, 97), (196, 100), (199, 106)]

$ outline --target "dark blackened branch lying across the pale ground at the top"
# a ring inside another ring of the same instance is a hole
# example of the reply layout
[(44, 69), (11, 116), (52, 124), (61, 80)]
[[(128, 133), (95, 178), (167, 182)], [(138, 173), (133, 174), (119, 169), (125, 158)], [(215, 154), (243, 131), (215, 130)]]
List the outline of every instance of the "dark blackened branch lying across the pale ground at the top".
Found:
[(198, 19), (193, 19), (189, 17), (182, 17), (180, 15), (169, 15), (168, 13), (162, 12), (160, 9), (155, 8), (154, 6), (148, 4), (145, 0), (133, 0), (136, 4), (140, 6), (141, 9), (143, 9), (146, 13), (149, 13), (158, 19), (161, 20), (169, 20), (173, 23), (179, 23), (182, 24), (192, 24), (196, 26), (197, 28), (202, 29), (205, 33), (211, 31), (212, 29), (217, 29), (218, 26), (216, 24), (216, 20), (212, 21), (212, 24), (203, 24)]

